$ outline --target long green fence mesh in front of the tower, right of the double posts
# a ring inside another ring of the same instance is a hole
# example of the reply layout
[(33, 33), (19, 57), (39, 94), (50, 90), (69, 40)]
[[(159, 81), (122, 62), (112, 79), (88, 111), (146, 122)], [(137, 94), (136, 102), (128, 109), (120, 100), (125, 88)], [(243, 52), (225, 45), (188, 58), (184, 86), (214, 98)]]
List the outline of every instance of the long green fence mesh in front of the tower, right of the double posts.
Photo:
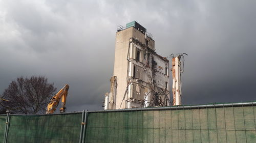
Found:
[(86, 142), (256, 142), (256, 108), (89, 113)]

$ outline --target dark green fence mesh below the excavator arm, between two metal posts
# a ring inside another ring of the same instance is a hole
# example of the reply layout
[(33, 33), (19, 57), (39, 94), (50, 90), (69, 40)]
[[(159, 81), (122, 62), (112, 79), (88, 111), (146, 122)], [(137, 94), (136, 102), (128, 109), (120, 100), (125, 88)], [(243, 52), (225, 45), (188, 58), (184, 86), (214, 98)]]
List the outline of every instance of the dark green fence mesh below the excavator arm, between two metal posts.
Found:
[(44, 116), (11, 115), (7, 142), (79, 142), (81, 116), (81, 113)]

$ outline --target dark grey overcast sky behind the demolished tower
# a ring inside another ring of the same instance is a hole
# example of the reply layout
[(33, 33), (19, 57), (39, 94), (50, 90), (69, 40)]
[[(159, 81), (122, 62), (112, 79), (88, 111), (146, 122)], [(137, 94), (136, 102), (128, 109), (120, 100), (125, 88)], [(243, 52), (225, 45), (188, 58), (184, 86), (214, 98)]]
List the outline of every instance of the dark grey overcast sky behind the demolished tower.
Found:
[[(102, 109), (117, 25), (136, 20), (158, 54), (187, 53), (182, 103), (256, 100), (256, 1), (0, 0), (0, 94), (18, 76), (70, 84), (67, 111)], [(172, 77), (170, 77), (172, 78)]]

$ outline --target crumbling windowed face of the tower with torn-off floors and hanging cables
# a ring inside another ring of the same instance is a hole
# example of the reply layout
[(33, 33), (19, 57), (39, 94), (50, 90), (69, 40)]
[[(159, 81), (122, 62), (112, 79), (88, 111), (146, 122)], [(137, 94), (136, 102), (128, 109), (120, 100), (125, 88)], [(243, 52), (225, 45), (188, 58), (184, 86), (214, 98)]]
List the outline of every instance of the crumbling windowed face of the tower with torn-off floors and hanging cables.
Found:
[[(161, 100), (154, 104), (148, 104), (151, 106), (170, 105), (168, 60), (140, 43), (139, 40), (132, 38), (130, 41), (127, 55), (129, 62), (127, 64), (127, 85), (131, 84), (129, 88), (131, 91), (128, 91), (126, 98), (128, 106), (126, 105), (126, 108), (144, 107), (147, 100), (150, 102)], [(135, 89), (143, 92), (137, 92)], [(160, 92), (162, 94), (159, 94)]]

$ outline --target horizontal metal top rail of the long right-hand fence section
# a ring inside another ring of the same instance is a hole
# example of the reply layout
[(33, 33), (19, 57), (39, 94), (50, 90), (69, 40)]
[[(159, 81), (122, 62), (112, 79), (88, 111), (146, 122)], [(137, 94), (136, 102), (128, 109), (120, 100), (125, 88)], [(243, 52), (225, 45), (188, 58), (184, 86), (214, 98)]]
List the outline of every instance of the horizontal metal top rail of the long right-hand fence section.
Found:
[(243, 103), (223, 103), (223, 104), (206, 104), (206, 105), (185, 105), (185, 106), (169, 106), (169, 107), (151, 107), (151, 108), (132, 108), (132, 109), (115, 109), (115, 110), (99, 110), (88, 112), (123, 112), (123, 111), (143, 111), (143, 110), (176, 110), (176, 109), (195, 109), (195, 108), (219, 108), (232, 106), (250, 106), (256, 105), (256, 101)]

